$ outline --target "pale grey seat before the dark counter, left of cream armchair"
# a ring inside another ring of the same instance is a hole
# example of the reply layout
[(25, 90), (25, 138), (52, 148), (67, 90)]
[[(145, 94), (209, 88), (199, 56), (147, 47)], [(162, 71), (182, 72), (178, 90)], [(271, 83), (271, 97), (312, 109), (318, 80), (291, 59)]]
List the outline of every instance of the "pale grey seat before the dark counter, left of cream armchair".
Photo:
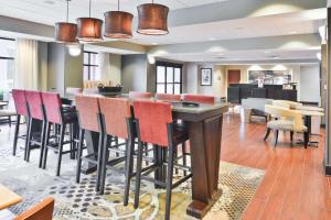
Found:
[(250, 117), (264, 117), (268, 121), (269, 114), (265, 112), (265, 105), (273, 105), (273, 99), (247, 98), (242, 99), (242, 121), (250, 122)]

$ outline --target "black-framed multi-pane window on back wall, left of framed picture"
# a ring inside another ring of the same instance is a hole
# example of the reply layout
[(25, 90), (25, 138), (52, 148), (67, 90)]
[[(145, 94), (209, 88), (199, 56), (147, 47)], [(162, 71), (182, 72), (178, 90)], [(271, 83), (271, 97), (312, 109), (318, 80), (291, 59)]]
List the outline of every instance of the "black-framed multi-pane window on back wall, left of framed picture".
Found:
[(157, 63), (157, 92), (182, 92), (182, 65), (172, 63)]

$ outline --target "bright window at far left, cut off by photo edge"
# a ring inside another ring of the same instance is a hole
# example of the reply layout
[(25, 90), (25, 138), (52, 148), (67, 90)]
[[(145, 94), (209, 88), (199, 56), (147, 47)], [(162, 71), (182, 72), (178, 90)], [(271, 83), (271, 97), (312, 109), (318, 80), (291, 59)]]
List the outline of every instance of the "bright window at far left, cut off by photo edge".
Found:
[(0, 100), (13, 88), (15, 41), (0, 37)]

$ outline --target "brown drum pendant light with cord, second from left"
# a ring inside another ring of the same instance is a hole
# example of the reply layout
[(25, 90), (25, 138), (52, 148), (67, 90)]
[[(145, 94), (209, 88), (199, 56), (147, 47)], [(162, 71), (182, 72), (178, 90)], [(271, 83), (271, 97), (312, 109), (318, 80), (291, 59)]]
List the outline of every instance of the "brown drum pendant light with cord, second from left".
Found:
[(92, 0), (89, 0), (89, 16), (77, 19), (77, 38), (82, 42), (100, 42), (103, 41), (103, 21), (90, 18), (90, 4)]

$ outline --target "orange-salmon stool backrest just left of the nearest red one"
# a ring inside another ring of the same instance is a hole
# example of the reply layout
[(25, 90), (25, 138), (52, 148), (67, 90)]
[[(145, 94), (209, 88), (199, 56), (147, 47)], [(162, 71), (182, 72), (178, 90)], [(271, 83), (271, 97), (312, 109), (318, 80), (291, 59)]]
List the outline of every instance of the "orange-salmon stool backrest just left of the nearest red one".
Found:
[(129, 100), (99, 98), (99, 103), (106, 133), (108, 135), (128, 139), (127, 119), (131, 118)]

